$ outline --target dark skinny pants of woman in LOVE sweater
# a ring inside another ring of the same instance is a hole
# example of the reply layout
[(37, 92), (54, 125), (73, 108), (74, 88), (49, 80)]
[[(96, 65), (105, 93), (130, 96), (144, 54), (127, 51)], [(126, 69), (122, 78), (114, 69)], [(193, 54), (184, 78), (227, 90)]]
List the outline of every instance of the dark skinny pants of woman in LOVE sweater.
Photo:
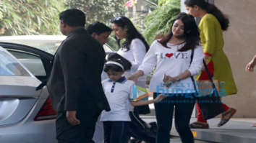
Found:
[[(154, 98), (157, 95), (157, 93), (154, 93)], [(155, 103), (155, 116), (158, 122), (156, 142), (170, 142), (174, 106), (176, 131), (183, 143), (194, 143), (194, 137), (189, 129), (189, 121), (195, 106), (195, 99), (192, 98), (192, 94), (169, 94), (163, 101)]]

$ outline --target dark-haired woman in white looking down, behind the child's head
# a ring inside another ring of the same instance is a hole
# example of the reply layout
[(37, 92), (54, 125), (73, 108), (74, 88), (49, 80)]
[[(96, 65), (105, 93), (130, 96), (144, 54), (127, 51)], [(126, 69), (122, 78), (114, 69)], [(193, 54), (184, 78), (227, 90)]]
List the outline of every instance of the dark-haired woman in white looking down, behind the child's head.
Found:
[[(131, 70), (124, 73), (124, 75), (128, 77), (137, 71), (137, 68), (139, 68), (142, 63), (149, 46), (144, 37), (142, 37), (142, 34), (137, 31), (135, 26), (127, 17), (116, 17), (111, 21), (111, 23), (116, 36), (116, 42), (119, 45), (117, 53), (132, 63)], [(120, 40), (122, 39), (125, 41), (120, 44)], [(140, 77), (136, 84), (137, 86), (145, 88), (146, 77)]]

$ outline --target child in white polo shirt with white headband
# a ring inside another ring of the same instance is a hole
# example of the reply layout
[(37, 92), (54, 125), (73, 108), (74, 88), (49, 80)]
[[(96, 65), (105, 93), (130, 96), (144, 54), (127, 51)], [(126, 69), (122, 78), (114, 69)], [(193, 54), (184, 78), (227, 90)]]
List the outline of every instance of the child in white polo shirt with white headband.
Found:
[(131, 119), (129, 118), (129, 103), (132, 106), (142, 106), (149, 103), (161, 101), (164, 96), (159, 95), (150, 101), (133, 101), (135, 83), (127, 80), (124, 76), (125, 70), (128, 70), (131, 64), (124, 59), (108, 61), (105, 64), (104, 71), (108, 79), (102, 82), (106, 98), (111, 111), (103, 111), (101, 121), (104, 127), (104, 143), (124, 143), (127, 140), (127, 132)]

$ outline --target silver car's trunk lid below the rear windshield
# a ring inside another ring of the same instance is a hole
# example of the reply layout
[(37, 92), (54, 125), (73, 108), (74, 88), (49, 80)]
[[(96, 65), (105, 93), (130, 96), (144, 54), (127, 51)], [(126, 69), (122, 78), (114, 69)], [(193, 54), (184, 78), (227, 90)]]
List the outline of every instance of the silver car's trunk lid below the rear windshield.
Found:
[(32, 76), (1, 76), (0, 126), (16, 124), (27, 116), (41, 91), (40, 81)]

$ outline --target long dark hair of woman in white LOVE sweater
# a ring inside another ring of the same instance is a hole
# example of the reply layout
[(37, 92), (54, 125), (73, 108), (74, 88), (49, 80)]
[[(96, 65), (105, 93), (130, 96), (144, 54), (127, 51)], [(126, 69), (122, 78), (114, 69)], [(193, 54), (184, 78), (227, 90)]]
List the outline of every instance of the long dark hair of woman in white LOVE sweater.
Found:
[[(192, 17), (192, 15), (186, 14), (186, 13), (180, 13), (176, 19), (174, 19), (174, 22), (176, 20), (181, 20), (184, 24), (184, 38), (186, 44), (184, 47), (179, 49), (180, 52), (187, 51), (194, 49), (197, 45), (199, 45), (200, 42), (200, 34), (197, 27), (197, 24), (195, 23), (195, 18)], [(171, 25), (171, 28), (174, 26), (174, 23)], [(172, 31), (170, 30), (169, 34), (162, 37), (161, 40), (158, 42), (161, 43), (164, 47), (167, 47), (167, 42), (171, 40), (171, 37), (173, 36)]]

